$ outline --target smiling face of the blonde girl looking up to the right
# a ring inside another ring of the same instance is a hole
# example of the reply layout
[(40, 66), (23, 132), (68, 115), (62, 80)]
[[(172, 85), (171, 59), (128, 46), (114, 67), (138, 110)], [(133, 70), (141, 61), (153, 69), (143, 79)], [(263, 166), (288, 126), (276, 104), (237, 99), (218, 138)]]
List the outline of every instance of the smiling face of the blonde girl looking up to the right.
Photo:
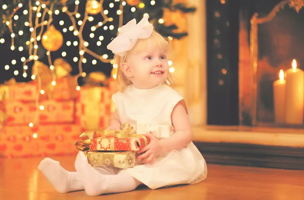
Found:
[(160, 48), (147, 48), (130, 54), (127, 63), (131, 68), (133, 85), (138, 89), (150, 89), (166, 81), (169, 73), (167, 52)]

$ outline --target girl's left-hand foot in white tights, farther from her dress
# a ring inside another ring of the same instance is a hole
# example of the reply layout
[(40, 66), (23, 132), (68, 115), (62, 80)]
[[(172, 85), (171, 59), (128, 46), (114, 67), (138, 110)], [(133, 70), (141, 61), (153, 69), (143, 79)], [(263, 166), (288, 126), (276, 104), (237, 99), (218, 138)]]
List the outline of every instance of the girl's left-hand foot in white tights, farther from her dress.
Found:
[(38, 169), (59, 193), (84, 189), (79, 174), (66, 171), (60, 166), (58, 161), (47, 157), (43, 159)]

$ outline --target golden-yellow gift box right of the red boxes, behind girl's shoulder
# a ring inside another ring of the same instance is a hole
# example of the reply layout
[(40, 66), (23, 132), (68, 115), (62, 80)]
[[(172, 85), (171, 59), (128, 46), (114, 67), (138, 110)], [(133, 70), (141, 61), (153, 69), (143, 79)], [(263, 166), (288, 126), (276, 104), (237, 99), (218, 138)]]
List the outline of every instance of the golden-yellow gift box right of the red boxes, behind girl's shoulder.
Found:
[(105, 129), (111, 119), (111, 104), (107, 87), (82, 87), (75, 105), (76, 123), (88, 131)]

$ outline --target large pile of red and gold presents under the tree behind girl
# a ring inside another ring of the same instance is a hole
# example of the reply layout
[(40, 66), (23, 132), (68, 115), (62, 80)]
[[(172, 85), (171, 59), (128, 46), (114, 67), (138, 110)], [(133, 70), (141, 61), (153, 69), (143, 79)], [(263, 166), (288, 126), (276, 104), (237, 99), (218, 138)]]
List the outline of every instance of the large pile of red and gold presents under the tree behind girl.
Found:
[[(111, 89), (85, 85), (78, 91), (70, 66), (55, 60), (56, 84), (39, 61), (33, 66), (42, 79), (0, 86), (0, 157), (76, 154), (74, 142), (88, 130), (109, 125)], [(64, 72), (62, 74), (62, 72)]]

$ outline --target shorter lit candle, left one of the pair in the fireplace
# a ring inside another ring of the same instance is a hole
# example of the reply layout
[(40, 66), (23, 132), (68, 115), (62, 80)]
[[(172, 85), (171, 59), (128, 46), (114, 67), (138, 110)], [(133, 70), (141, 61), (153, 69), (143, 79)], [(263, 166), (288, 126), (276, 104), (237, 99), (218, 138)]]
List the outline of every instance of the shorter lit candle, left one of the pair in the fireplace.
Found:
[(286, 80), (284, 71), (281, 69), (279, 79), (273, 83), (274, 86), (274, 114), (275, 122), (278, 124), (285, 123), (285, 88)]

